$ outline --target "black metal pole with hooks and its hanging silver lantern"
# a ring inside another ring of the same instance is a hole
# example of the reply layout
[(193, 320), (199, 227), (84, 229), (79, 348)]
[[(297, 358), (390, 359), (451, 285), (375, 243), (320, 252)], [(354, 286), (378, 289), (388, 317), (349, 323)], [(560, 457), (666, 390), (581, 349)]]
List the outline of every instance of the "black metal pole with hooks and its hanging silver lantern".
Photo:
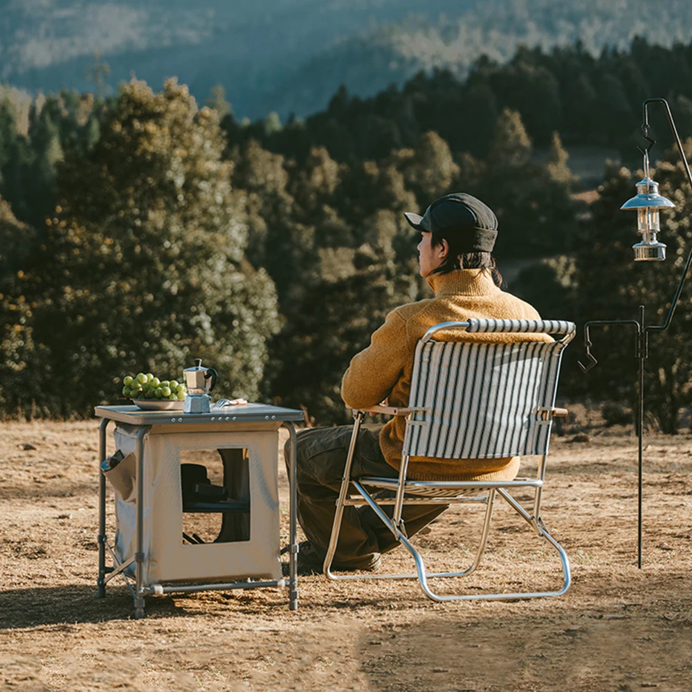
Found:
[[(641, 125), (641, 130), (644, 132), (644, 139), (646, 140), (646, 147), (637, 147), (641, 154), (644, 155), (644, 180), (637, 183), (637, 194), (632, 199), (626, 201), (626, 203), (621, 206), (623, 210), (635, 210), (637, 211), (637, 226), (639, 233), (642, 235), (641, 242), (632, 246), (635, 251), (635, 262), (660, 262), (666, 259), (666, 246), (659, 242), (657, 238), (657, 233), (659, 233), (659, 209), (673, 208), (675, 205), (669, 199), (662, 197), (658, 194), (658, 183), (651, 180), (649, 177), (649, 156), (648, 153), (650, 149), (655, 145), (655, 140), (648, 136), (649, 123), (648, 123), (648, 104), (650, 103), (662, 103), (666, 108), (666, 115), (668, 116), (668, 123), (671, 125), (673, 130), (673, 135), (675, 136), (675, 145), (677, 145), (677, 150), (680, 152), (680, 158), (682, 159), (682, 165), (687, 174), (687, 179), (692, 187), (692, 174), (690, 173), (690, 167), (685, 158), (684, 150), (682, 149), (682, 143), (680, 142), (680, 136), (677, 134), (677, 128), (675, 127), (675, 122), (673, 121), (673, 115), (671, 113), (671, 107), (664, 98), (648, 98), (642, 104), (642, 110), (644, 111), (644, 124)], [(638, 525), (637, 525), (637, 566), (641, 569), (641, 476), (642, 476), (642, 454), (644, 445), (644, 361), (648, 358), (648, 335), (652, 331), (666, 331), (671, 325), (671, 320), (673, 319), (673, 313), (675, 313), (675, 308), (677, 307), (677, 302), (680, 300), (680, 293), (682, 293), (682, 286), (687, 277), (687, 273), (692, 264), (692, 248), (690, 248), (689, 255), (687, 255), (687, 260), (685, 266), (682, 269), (682, 275), (680, 276), (680, 282), (677, 284), (677, 289), (675, 295), (673, 296), (673, 302), (671, 302), (671, 308), (668, 310), (668, 315), (666, 320), (662, 325), (644, 325), (644, 305), (639, 306), (639, 319), (638, 320), (591, 320), (586, 322), (584, 325), (584, 347), (586, 349), (586, 365), (579, 363), (582, 372), (588, 372), (596, 365), (598, 362), (596, 358), (591, 353), (592, 342), (590, 338), (590, 327), (597, 327), (603, 325), (631, 325), (635, 327), (637, 331), (637, 352), (636, 356), (639, 359), (639, 386), (637, 388), (637, 428), (639, 433), (639, 483), (638, 483)]]

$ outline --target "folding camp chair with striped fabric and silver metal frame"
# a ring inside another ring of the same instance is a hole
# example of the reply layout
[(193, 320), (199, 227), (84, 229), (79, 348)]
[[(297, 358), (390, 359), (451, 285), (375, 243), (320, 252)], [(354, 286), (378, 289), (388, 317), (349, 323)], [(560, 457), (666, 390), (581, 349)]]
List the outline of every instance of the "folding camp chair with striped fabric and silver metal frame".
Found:
[[(333, 580), (418, 579), (425, 594), (434, 601), (529, 599), (559, 596), (570, 587), (570, 562), (563, 547), (549, 534), (540, 517), (540, 500), (545, 482), (545, 464), (552, 419), (566, 415), (555, 408), (555, 394), (563, 349), (574, 338), (575, 325), (558, 320), (468, 320), (442, 322), (428, 329), (419, 341), (413, 366), (407, 408), (375, 406), (354, 411), (354, 431), (349, 445), (343, 481), (336, 502), (334, 527), (324, 563), (324, 572)], [(558, 340), (515, 343), (469, 343), (438, 341), (441, 331), (468, 333), (541, 333), (561, 335)], [(367, 412), (406, 417), (406, 432), (397, 478), (351, 477), (356, 438)], [(498, 459), (515, 455), (540, 455), (536, 478), (511, 481), (424, 482), (409, 480), (406, 469), (410, 457)], [(525, 509), (510, 491), (533, 492), (533, 507)], [(390, 491), (383, 493), (382, 491)], [(391, 491), (394, 491), (392, 493)], [(392, 497), (394, 494), (394, 497)], [(381, 498), (379, 495), (388, 495)], [(459, 577), (471, 574), (485, 549), (495, 497), (500, 496), (525, 520), (536, 534), (552, 545), (562, 562), (564, 583), (557, 591), (438, 595), (428, 585), (428, 577)], [(473, 563), (461, 572), (427, 574), (423, 558), (406, 535), (401, 518), (405, 504), (486, 504), (480, 545)], [(333, 574), (336, 545), (347, 505), (369, 505), (399, 543), (413, 556), (416, 574)], [(388, 513), (385, 506), (393, 507)], [(390, 514), (392, 516), (390, 516)]]

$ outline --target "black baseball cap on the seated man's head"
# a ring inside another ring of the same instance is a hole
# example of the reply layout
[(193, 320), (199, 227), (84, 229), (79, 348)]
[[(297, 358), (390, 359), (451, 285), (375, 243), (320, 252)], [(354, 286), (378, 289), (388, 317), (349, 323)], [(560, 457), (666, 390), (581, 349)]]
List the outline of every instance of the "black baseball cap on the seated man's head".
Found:
[(466, 192), (438, 197), (423, 216), (413, 212), (404, 212), (404, 216), (416, 230), (427, 233), (435, 231), (446, 238), (455, 235), (462, 253), (490, 253), (498, 237), (498, 217), (495, 212)]

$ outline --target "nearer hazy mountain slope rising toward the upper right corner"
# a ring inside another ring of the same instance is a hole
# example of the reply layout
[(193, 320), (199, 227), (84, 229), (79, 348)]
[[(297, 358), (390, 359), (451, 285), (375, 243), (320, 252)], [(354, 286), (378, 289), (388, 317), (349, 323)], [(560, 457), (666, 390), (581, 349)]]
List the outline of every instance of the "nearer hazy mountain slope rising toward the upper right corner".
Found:
[(259, 110), (316, 111), (338, 83), (351, 93), (374, 95), (421, 69), (447, 68), (464, 77), (479, 55), (504, 62), (521, 44), (549, 49), (579, 39), (597, 55), (604, 46), (625, 48), (637, 35), (662, 46), (688, 43), (692, 2), (483, 0), (456, 17), (436, 22), (410, 17), (331, 46), (300, 65)]

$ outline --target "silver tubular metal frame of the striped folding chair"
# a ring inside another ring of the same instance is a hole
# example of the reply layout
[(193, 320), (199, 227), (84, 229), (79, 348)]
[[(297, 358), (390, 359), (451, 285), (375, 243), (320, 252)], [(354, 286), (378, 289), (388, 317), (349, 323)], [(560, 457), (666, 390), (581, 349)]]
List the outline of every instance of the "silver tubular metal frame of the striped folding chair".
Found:
[[(554, 320), (549, 320), (545, 322), (541, 321), (523, 321), (523, 320), (468, 320), (466, 322), (441, 322), (439, 325), (430, 327), (426, 334), (419, 341), (419, 345), (416, 350), (416, 360), (419, 359), (419, 354), (421, 353), (421, 347), (428, 343), (428, 341), (437, 334), (439, 331), (450, 331), (452, 329), (462, 329), (464, 331), (502, 331), (504, 333), (517, 333), (517, 332), (531, 332), (537, 333), (541, 332), (544, 334), (563, 334), (563, 337), (558, 340), (558, 343), (562, 345), (555, 354), (558, 358), (558, 363), (556, 364), (556, 371), (554, 372), (554, 383), (552, 387), (549, 386), (546, 390), (545, 397), (549, 403), (548, 406), (540, 406), (537, 410), (534, 410), (534, 415), (536, 420), (535, 424), (538, 426), (548, 426), (547, 437), (545, 438), (545, 452), (540, 455), (538, 461), (538, 469), (536, 473), (536, 478), (525, 478), (520, 477), (511, 481), (417, 481), (417, 480), (407, 480), (406, 471), (408, 468), (408, 462), (410, 457), (411, 448), (411, 437), (412, 430), (415, 426), (426, 425), (425, 420), (417, 419), (424, 418), (427, 411), (424, 407), (409, 406), (406, 408), (393, 408), (389, 406), (374, 406), (365, 410), (354, 410), (354, 430), (349, 444), (349, 449), (347, 452), (347, 459), (344, 468), (344, 473), (342, 477), (342, 483), (340, 492), (338, 495), (338, 500), (336, 501), (336, 513), (334, 516), (334, 525), (331, 531), (331, 538), (329, 541), (329, 548), (327, 549), (327, 556), (325, 557), (325, 562), (323, 565), (323, 571), (325, 576), (332, 581), (356, 581), (361, 579), (418, 579), (421, 589), (426, 594), (426, 596), (432, 601), (502, 601), (502, 600), (515, 600), (515, 599), (532, 599), (538, 597), (552, 597), (561, 596), (564, 594), (568, 588), (570, 588), (570, 583), (572, 581), (570, 572), (570, 561), (565, 553), (563, 547), (558, 543), (555, 538), (549, 533), (543, 518), (540, 516), (540, 502), (543, 495), (543, 485), (545, 482), (545, 468), (547, 461), (547, 445), (549, 441), (550, 427), (552, 426), (552, 419), (558, 416), (567, 415), (567, 410), (561, 408), (555, 408), (555, 393), (557, 389), (557, 381), (559, 375), (559, 366), (562, 356), (563, 348), (570, 343), (574, 334), (576, 332), (576, 327), (572, 322), (557, 322)], [(417, 367), (414, 367), (414, 377), (417, 376)], [(543, 373), (543, 378), (547, 374)], [(552, 391), (551, 391), (552, 389)], [(410, 399), (410, 403), (412, 399)], [(353, 461), (354, 450), (356, 448), (356, 440), (358, 438), (358, 430), (361, 427), (363, 417), (366, 413), (370, 414), (385, 414), (393, 416), (403, 416), (406, 417), (406, 432), (403, 439), (403, 448), (401, 455), (401, 466), (399, 468), (399, 477), (392, 478), (376, 478), (376, 477), (363, 477), (363, 478), (352, 478), (351, 477), (351, 466)], [(481, 458), (481, 457), (476, 457)], [(349, 489), (354, 488), (357, 491), (351, 493), (353, 497), (349, 495)], [(372, 490), (376, 492), (389, 490), (395, 491), (394, 498), (374, 498)], [(513, 489), (528, 489), (529, 491), (534, 491), (533, 496), (533, 506), (530, 509), (525, 509), (522, 504), (515, 500), (510, 494), (510, 490)], [(418, 493), (418, 496), (416, 496)], [(437, 493), (437, 494), (435, 494)], [(446, 493), (446, 496), (445, 496)], [(450, 493), (453, 496), (450, 496)], [(462, 577), (468, 576), (476, 570), (480, 564), (481, 558), (484, 554), (487, 539), (489, 536), (491, 517), (493, 514), (493, 507), (495, 504), (495, 498), (500, 496), (502, 500), (509, 504), (509, 507), (513, 509), (522, 518), (531, 529), (534, 530), (537, 536), (543, 538), (549, 545), (551, 545), (561, 560), (562, 571), (563, 571), (563, 585), (561, 588), (555, 591), (536, 591), (536, 592), (516, 592), (516, 593), (491, 593), (491, 594), (451, 594), (451, 595), (441, 595), (437, 594), (430, 588), (428, 584), (428, 578), (435, 577)], [(428, 574), (426, 571), (426, 566), (424, 564), (421, 554), (412, 545), (410, 539), (406, 535), (406, 527), (402, 520), (403, 506), (408, 504), (485, 504), (485, 517), (482, 526), (480, 543), (476, 549), (475, 556), (471, 565), (466, 567), (466, 569), (458, 572), (434, 572)], [(383, 524), (390, 529), (395, 538), (406, 547), (408, 552), (412, 555), (415, 561), (416, 572), (412, 574), (334, 574), (332, 572), (332, 563), (334, 561), (334, 554), (336, 553), (336, 545), (338, 543), (338, 537), (340, 533), (340, 527), (343, 518), (344, 508), (347, 506), (363, 506), (367, 504), (370, 506), (372, 511), (379, 517)], [(394, 510), (392, 512), (392, 517), (383, 511), (383, 506), (392, 506)]]

